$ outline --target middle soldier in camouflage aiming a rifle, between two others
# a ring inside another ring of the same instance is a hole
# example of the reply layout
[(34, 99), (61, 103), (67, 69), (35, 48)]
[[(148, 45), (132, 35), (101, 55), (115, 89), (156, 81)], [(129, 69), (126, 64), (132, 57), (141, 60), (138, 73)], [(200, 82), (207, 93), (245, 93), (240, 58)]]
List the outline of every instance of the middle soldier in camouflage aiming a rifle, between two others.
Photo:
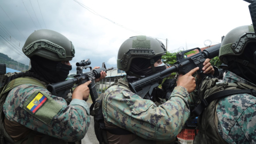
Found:
[[(147, 36), (131, 37), (121, 45), (117, 67), (124, 70), (127, 76), (118, 79), (103, 94), (102, 111), (107, 130), (107, 140), (103, 136), (104, 143), (178, 142), (177, 135), (190, 115), (189, 103), (197, 99), (197, 96), (189, 97), (189, 93), (195, 90), (196, 82), (192, 74), (198, 68), (179, 77), (169, 100), (159, 106), (152, 101), (154, 98), (151, 97), (155, 95), (142, 99), (128, 86), (129, 82), (166, 69), (161, 60), (165, 53), (162, 42)], [(209, 61), (207, 59), (205, 63)], [(212, 73), (213, 68), (207, 63), (203, 70)], [(114, 134), (110, 130), (114, 130)]]

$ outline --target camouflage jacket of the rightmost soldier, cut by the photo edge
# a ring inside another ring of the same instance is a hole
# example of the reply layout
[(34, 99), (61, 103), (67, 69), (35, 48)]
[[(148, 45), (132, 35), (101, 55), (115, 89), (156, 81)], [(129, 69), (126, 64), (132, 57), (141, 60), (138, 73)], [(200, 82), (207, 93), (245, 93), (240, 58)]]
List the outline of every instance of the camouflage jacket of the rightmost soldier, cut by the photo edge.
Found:
[[(228, 71), (223, 82), (241, 82), (255, 86)], [(228, 143), (256, 142), (256, 98), (250, 94), (235, 94), (220, 99), (217, 107), (218, 131)]]

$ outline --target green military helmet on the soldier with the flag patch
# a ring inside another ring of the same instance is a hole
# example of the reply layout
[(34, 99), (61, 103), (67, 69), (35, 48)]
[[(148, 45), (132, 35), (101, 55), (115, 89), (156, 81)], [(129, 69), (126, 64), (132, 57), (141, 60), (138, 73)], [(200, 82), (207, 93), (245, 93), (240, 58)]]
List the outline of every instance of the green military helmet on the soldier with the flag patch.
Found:
[(70, 61), (75, 57), (72, 42), (49, 29), (40, 29), (32, 33), (22, 47), (22, 52), (28, 58), (38, 55), (52, 61)]

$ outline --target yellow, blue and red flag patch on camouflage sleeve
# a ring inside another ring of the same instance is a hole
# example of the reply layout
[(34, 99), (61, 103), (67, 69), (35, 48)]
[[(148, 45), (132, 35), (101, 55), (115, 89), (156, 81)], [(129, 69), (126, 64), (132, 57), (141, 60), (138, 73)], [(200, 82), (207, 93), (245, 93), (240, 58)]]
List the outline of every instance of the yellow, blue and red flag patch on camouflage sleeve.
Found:
[(36, 97), (31, 100), (28, 103), (27, 108), (33, 113), (35, 114), (36, 111), (43, 106), (43, 104), (46, 102), (47, 98), (40, 92), (38, 92), (38, 94), (36, 95)]

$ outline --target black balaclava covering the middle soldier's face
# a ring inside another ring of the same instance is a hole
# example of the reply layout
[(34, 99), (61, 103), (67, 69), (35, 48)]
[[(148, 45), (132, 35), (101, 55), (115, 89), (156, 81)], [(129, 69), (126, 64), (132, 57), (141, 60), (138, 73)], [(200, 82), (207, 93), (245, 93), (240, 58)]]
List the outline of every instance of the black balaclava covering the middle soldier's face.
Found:
[[(156, 61), (158, 61), (159, 59), (161, 59), (161, 56), (158, 57), (154, 57), (153, 58)], [(132, 73), (139, 75), (141, 77), (147, 77), (149, 75), (154, 74), (152, 68), (149, 68), (151, 66), (150, 64), (150, 59), (145, 59), (145, 58), (135, 58), (132, 60), (131, 62), (131, 66), (130, 66), (130, 70)], [(159, 66), (159, 67), (155, 67), (156, 72), (158, 73), (160, 71), (165, 70), (166, 67), (165, 66)], [(129, 74), (129, 73), (127, 73)], [(129, 83), (137, 81), (139, 78), (135, 77), (135, 76), (129, 76), (127, 75), (127, 81)]]

